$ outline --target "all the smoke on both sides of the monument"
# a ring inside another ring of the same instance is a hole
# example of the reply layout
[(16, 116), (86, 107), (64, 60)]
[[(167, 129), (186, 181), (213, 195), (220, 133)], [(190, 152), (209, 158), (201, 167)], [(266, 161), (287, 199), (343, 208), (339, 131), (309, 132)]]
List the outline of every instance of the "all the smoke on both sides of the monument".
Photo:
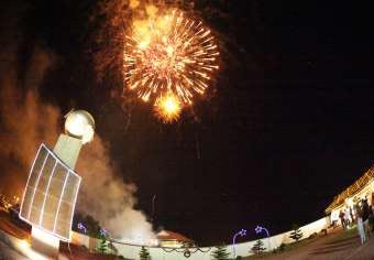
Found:
[[(18, 69), (16, 44), (0, 52), (0, 191), (22, 195), (31, 163), (42, 142), (54, 147), (62, 132), (58, 107), (42, 100), (38, 86), (53, 69), (57, 57), (35, 47), (25, 71)], [(116, 175), (108, 144), (96, 134), (78, 159), (82, 176), (77, 210), (94, 216), (110, 235), (142, 242), (153, 238), (152, 226), (134, 209), (134, 184)]]

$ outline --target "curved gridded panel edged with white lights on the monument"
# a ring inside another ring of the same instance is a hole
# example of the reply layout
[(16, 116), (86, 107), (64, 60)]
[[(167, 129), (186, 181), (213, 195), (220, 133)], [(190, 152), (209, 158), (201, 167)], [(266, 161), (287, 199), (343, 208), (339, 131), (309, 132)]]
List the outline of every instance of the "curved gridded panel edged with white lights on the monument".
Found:
[(41, 144), (23, 194), (20, 218), (69, 241), (80, 181), (77, 173)]

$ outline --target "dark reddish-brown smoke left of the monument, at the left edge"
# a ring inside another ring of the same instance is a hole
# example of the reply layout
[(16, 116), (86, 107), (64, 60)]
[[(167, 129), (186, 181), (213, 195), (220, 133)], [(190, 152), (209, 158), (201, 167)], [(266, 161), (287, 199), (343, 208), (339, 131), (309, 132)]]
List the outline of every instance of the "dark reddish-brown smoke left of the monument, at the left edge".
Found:
[(59, 110), (42, 104), (36, 93), (53, 55), (36, 48), (22, 80), (15, 71), (15, 50), (4, 50), (0, 61), (1, 188), (20, 195), (40, 143), (51, 145), (57, 137)]

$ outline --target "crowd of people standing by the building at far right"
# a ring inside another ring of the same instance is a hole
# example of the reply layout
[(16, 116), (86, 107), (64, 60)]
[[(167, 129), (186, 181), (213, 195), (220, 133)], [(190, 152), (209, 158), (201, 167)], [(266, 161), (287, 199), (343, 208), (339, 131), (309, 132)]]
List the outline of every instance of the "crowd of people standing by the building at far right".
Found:
[(374, 204), (369, 205), (366, 198), (340, 210), (339, 218), (343, 228), (358, 225), (361, 243), (364, 243), (372, 236), (374, 229)]

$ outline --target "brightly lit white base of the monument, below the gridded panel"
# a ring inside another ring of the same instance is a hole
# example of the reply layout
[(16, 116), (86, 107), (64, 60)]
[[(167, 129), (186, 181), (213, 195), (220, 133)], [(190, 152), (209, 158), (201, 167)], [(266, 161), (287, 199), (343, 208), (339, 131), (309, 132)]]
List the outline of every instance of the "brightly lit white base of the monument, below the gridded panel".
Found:
[(38, 228), (31, 229), (31, 247), (51, 259), (58, 259), (59, 239)]

